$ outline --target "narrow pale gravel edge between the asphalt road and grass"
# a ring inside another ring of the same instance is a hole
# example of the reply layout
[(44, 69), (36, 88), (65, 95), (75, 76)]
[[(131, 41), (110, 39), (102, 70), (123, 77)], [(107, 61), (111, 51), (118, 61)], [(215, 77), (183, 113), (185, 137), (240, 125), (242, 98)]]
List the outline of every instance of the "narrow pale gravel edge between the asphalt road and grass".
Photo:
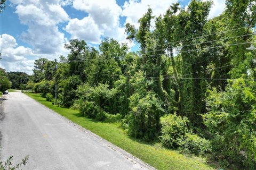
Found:
[[(26, 95), (26, 94), (24, 94), (24, 95)], [(28, 95), (26, 95), (26, 96), (29, 97)], [(31, 98), (31, 97), (29, 97), (29, 98)], [(31, 99), (33, 99), (33, 98), (31, 98)], [(35, 100), (35, 99), (33, 99), (33, 100)], [(36, 101), (36, 100), (35, 100), (35, 101)], [(38, 101), (36, 101), (36, 102), (39, 103)], [(50, 112), (52, 112), (53, 114), (55, 114), (55, 115), (57, 115), (57, 116), (63, 118), (63, 120), (67, 121), (68, 123), (71, 123), (73, 126), (76, 126), (76, 128), (77, 128), (78, 130), (82, 130), (82, 131), (88, 133), (89, 135), (91, 135), (91, 136), (97, 138), (97, 139), (100, 140), (101, 142), (105, 143), (110, 149), (114, 150), (114, 151), (117, 152), (119, 155), (123, 156), (124, 158), (129, 159), (131, 162), (133, 162), (133, 160), (135, 160), (139, 165), (143, 166), (144, 168), (147, 168), (147, 169), (149, 169), (149, 170), (157, 170), (157, 169), (154, 168), (153, 166), (151, 166), (151, 165), (149, 165), (149, 164), (143, 162), (141, 159), (139, 159), (139, 158), (133, 156), (133, 155), (130, 154), (129, 152), (127, 152), (127, 151), (125, 151), (125, 150), (123, 150), (123, 149), (121, 149), (121, 148), (115, 146), (113, 143), (110, 143), (109, 141), (107, 141), (107, 140), (101, 138), (99, 135), (97, 135), (97, 134), (91, 132), (90, 130), (87, 130), (87, 129), (83, 128), (81, 125), (78, 125), (78, 124), (76, 124), (76, 123), (70, 121), (68, 118), (66, 118), (66, 117), (64, 117), (64, 116), (62, 116), (62, 115), (60, 115), (60, 114), (58, 114), (57, 112), (54, 112), (54, 111), (53, 111), (52, 109), (50, 109), (49, 107), (46, 107), (45, 105), (43, 105), (43, 104), (41, 104), (41, 103), (39, 103), (39, 104), (42, 105), (44, 108), (48, 109), (48, 110), (49, 110)], [(0, 150), (0, 151), (1, 151), (1, 150)], [(1, 153), (1, 152), (0, 152), (0, 153)], [(137, 163), (134, 162), (134, 164), (137, 164)]]

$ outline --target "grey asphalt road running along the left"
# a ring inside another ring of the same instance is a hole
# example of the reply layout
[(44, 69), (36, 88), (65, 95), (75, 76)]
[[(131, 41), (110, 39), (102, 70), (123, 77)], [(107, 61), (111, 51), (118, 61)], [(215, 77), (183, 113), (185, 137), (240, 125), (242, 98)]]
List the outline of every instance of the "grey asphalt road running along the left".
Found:
[(21, 92), (1, 104), (1, 160), (13, 156), (22, 169), (151, 169), (150, 166)]

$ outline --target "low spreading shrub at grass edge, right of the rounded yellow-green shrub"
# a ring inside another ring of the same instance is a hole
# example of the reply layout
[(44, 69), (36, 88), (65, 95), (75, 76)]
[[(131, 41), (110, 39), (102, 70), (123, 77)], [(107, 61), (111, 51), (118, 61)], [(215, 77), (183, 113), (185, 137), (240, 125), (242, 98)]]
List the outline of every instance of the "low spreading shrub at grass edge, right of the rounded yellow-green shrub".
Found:
[(179, 141), (178, 145), (179, 150), (185, 154), (205, 156), (211, 153), (210, 141), (192, 133), (186, 133), (185, 137)]

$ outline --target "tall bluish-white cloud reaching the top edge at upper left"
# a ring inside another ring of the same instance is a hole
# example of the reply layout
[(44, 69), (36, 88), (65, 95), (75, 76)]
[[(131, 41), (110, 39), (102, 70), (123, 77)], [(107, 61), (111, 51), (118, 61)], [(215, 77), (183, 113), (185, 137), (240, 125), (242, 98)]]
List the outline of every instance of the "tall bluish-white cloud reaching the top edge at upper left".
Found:
[(69, 15), (61, 5), (70, 4), (70, 0), (10, 0), (15, 4), (19, 20), (28, 25), (28, 30), (20, 36), (21, 40), (34, 47), (35, 53), (66, 54), (64, 33), (58, 24), (69, 21)]

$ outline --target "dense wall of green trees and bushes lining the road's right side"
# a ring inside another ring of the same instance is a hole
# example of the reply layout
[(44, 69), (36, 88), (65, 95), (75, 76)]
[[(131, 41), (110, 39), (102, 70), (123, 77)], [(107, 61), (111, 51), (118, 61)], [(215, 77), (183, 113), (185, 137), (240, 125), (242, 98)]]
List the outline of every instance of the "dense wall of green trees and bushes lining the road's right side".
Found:
[[(58, 104), (121, 122), (131, 137), (253, 169), (256, 54), (246, 48), (256, 39), (256, 5), (226, 4), (212, 19), (211, 1), (171, 4), (160, 16), (148, 8), (138, 29), (126, 24), (137, 53), (109, 38), (99, 50), (70, 40), (58, 63)], [(33, 71), (29, 87), (55, 97), (54, 62), (40, 58)]]

